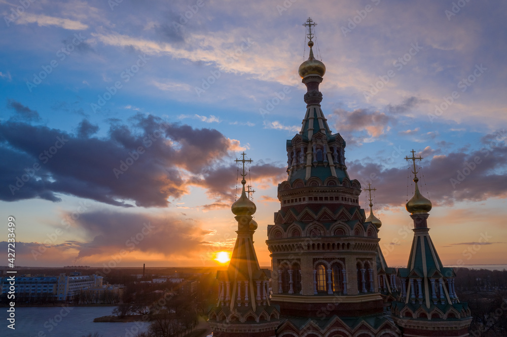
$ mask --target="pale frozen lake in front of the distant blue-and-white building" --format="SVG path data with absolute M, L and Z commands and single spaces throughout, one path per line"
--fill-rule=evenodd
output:
M 133 337 L 138 331 L 147 331 L 149 326 L 147 322 L 93 322 L 96 317 L 111 315 L 115 307 L 68 307 L 65 310 L 58 306 L 16 308 L 16 329 L 12 330 L 7 327 L 7 309 L 0 308 L 3 313 L 0 336 L 82 337 L 98 332 L 101 337 Z

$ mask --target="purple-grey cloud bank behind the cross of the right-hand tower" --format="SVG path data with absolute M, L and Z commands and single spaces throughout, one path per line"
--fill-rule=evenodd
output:
M 452 152 L 434 155 L 429 147 L 424 154 L 419 188 L 433 205 L 452 205 L 454 202 L 481 201 L 507 195 L 507 147 L 486 147 L 471 152 Z M 369 182 L 377 188 L 376 201 L 384 206 L 404 204 L 413 195 L 413 175 L 405 168 L 385 168 L 394 162 L 405 161 L 409 149 L 392 151 L 379 161 L 353 161 L 349 163 L 351 179 L 365 186 Z M 422 177 L 424 175 L 424 177 Z M 411 184 L 408 187 L 407 182 Z M 426 185 L 426 186 L 424 186 Z M 403 192 L 402 192 L 403 191 Z

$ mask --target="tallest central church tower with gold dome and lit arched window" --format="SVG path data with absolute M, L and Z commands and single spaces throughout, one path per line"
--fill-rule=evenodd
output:
M 311 18 L 305 23 L 310 55 L 299 67 L 306 113 L 300 133 L 286 142 L 288 177 L 278 185 L 281 207 L 266 241 L 271 303 L 285 318 L 277 335 L 396 336 L 381 293 L 395 286 L 378 245 L 380 222 L 366 219 L 360 183 L 347 173 L 345 140 L 331 132 L 321 110 L 325 66 L 312 49 L 315 25 Z

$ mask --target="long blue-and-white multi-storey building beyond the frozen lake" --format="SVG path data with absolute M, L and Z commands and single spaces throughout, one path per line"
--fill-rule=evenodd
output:
M 101 287 L 102 276 L 20 276 L 16 277 L 15 291 L 18 297 L 46 298 L 56 301 L 72 300 L 82 288 Z M 4 297 L 9 291 L 9 280 L 0 277 L 1 296 Z

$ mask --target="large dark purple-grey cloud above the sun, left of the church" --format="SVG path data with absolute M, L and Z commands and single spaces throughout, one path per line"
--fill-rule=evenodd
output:
M 110 123 L 103 138 L 88 138 L 95 127 L 86 122 L 77 135 L 23 122 L 0 125 L 0 199 L 59 201 L 58 194 L 68 194 L 126 207 L 162 207 L 169 197 L 188 193 L 195 177 L 212 175 L 210 168 L 239 145 L 216 130 L 163 123 L 154 116 Z

